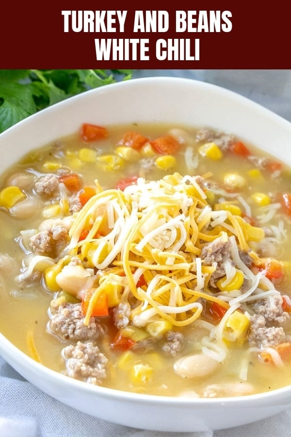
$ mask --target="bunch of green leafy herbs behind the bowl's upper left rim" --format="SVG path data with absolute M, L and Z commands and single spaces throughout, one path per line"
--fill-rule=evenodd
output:
M 0 133 L 88 89 L 131 78 L 132 70 L 0 70 Z

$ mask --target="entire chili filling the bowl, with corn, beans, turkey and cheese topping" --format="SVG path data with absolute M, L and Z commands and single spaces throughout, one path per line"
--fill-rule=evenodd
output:
M 290 384 L 290 177 L 231 126 L 82 124 L 1 176 L 0 331 L 97 386 Z

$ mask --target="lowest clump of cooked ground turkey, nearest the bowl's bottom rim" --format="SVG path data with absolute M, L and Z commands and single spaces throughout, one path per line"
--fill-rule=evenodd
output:
M 108 358 L 92 342 L 69 345 L 62 350 L 67 375 L 100 386 L 108 375 Z

